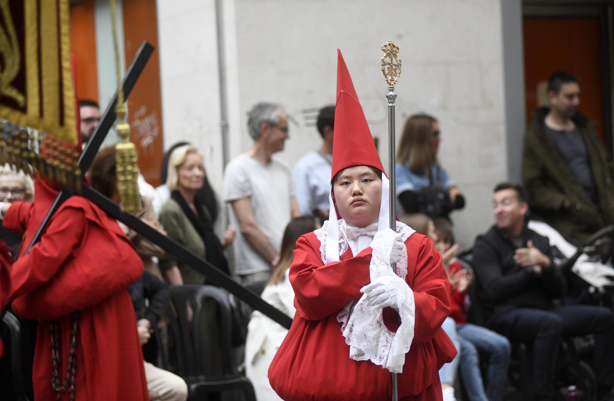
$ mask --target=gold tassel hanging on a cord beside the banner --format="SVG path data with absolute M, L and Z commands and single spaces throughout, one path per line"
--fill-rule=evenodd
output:
M 117 151 L 117 180 L 119 193 L 122 197 L 120 207 L 122 212 L 137 213 L 141 210 L 141 196 L 139 194 L 138 166 L 136 164 L 136 148 L 130 142 L 130 124 L 126 121 L 126 105 L 123 98 L 122 69 L 120 67 L 119 40 L 117 39 L 117 17 L 115 15 L 115 0 L 111 0 L 111 17 L 113 22 L 113 42 L 115 48 L 115 67 L 117 69 L 117 134 L 122 139 L 115 146 Z

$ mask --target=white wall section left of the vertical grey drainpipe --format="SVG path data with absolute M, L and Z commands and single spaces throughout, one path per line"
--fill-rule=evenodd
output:
M 203 153 L 221 190 L 216 15 L 212 0 L 158 0 L 160 82 L 165 148 L 188 140 Z

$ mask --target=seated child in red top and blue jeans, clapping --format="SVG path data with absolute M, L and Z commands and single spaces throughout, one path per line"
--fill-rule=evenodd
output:
M 456 254 L 458 247 L 452 244 L 452 227 L 449 221 L 445 218 L 436 218 L 434 226 L 435 249 L 441 254 L 449 254 L 450 250 L 454 250 Z M 454 319 L 456 323 L 457 340 L 461 344 L 459 363 L 468 398 L 470 401 L 501 401 L 510 362 L 510 342 L 506 337 L 485 327 L 467 323 L 466 310 L 469 305 L 467 289 L 471 285 L 473 273 L 465 269 L 459 259 L 448 258 L 447 261 L 445 259 L 443 265 L 453 285 L 449 318 Z M 486 386 L 480 372 L 478 353 L 488 355 Z

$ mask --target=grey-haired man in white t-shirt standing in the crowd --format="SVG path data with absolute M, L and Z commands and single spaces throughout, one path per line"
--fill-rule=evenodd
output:
M 231 225 L 238 227 L 235 273 L 242 283 L 268 280 L 286 225 L 300 216 L 290 170 L 271 158 L 288 139 L 286 113 L 279 105 L 258 103 L 247 115 L 254 145 L 229 162 L 224 174 L 224 201 L 231 206 Z

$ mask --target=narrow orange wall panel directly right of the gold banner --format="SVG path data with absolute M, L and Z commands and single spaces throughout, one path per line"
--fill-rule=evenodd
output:
M 70 33 L 71 52 L 75 56 L 77 66 L 77 97 L 98 102 L 94 0 L 84 0 L 71 5 Z

